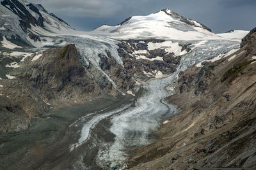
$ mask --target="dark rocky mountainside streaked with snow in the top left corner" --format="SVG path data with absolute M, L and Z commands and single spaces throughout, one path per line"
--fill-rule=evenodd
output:
M 44 34 L 72 30 L 70 25 L 48 13 L 41 5 L 24 0 L 4 0 L 0 5 L 1 37 L 20 45 L 44 46 L 50 39 Z M 37 30 L 36 28 L 40 28 Z M 52 43 L 52 45 L 54 45 Z

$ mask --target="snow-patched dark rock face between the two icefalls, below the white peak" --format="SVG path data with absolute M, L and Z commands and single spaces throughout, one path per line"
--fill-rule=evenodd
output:
M 129 74 L 136 74 L 142 78 L 156 76 L 157 71 L 161 71 L 163 74 L 173 73 L 176 71 L 177 66 L 179 66 L 181 56 L 174 56 L 174 53 L 166 52 L 161 48 L 148 50 L 148 43 L 163 42 L 164 40 L 161 39 L 144 39 L 143 41 L 130 39 L 120 41 L 118 43 L 118 53 L 122 57 L 124 68 Z M 136 52 L 142 53 L 134 55 Z M 145 57 L 145 59 L 141 59 L 140 56 Z M 160 59 L 157 57 L 160 57 Z

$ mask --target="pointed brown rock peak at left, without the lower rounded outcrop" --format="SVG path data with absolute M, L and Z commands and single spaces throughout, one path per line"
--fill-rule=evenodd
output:
M 79 62 L 74 45 L 49 49 L 38 55 L 42 56 L 36 60 L 33 55 L 26 59 L 24 67 L 16 69 L 13 75 L 31 84 L 45 101 L 81 102 L 98 90 Z

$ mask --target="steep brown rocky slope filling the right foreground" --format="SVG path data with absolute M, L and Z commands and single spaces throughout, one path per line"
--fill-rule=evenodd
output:
M 253 29 L 237 52 L 179 74 L 166 101 L 181 111 L 136 150 L 132 169 L 256 167 L 255 39 Z

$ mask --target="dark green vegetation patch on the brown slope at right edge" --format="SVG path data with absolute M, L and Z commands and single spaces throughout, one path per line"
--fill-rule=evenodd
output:
M 228 69 L 228 71 L 223 75 L 223 77 L 221 78 L 221 82 L 227 80 L 228 78 L 230 79 L 229 82 L 231 83 L 233 80 L 235 80 L 237 74 L 241 73 L 241 71 L 243 71 L 246 66 L 248 66 L 249 64 L 251 64 L 253 61 L 256 61 L 256 59 L 254 60 L 250 60 L 248 62 L 243 62 L 241 64 L 238 64 L 236 66 L 231 67 L 230 69 Z

